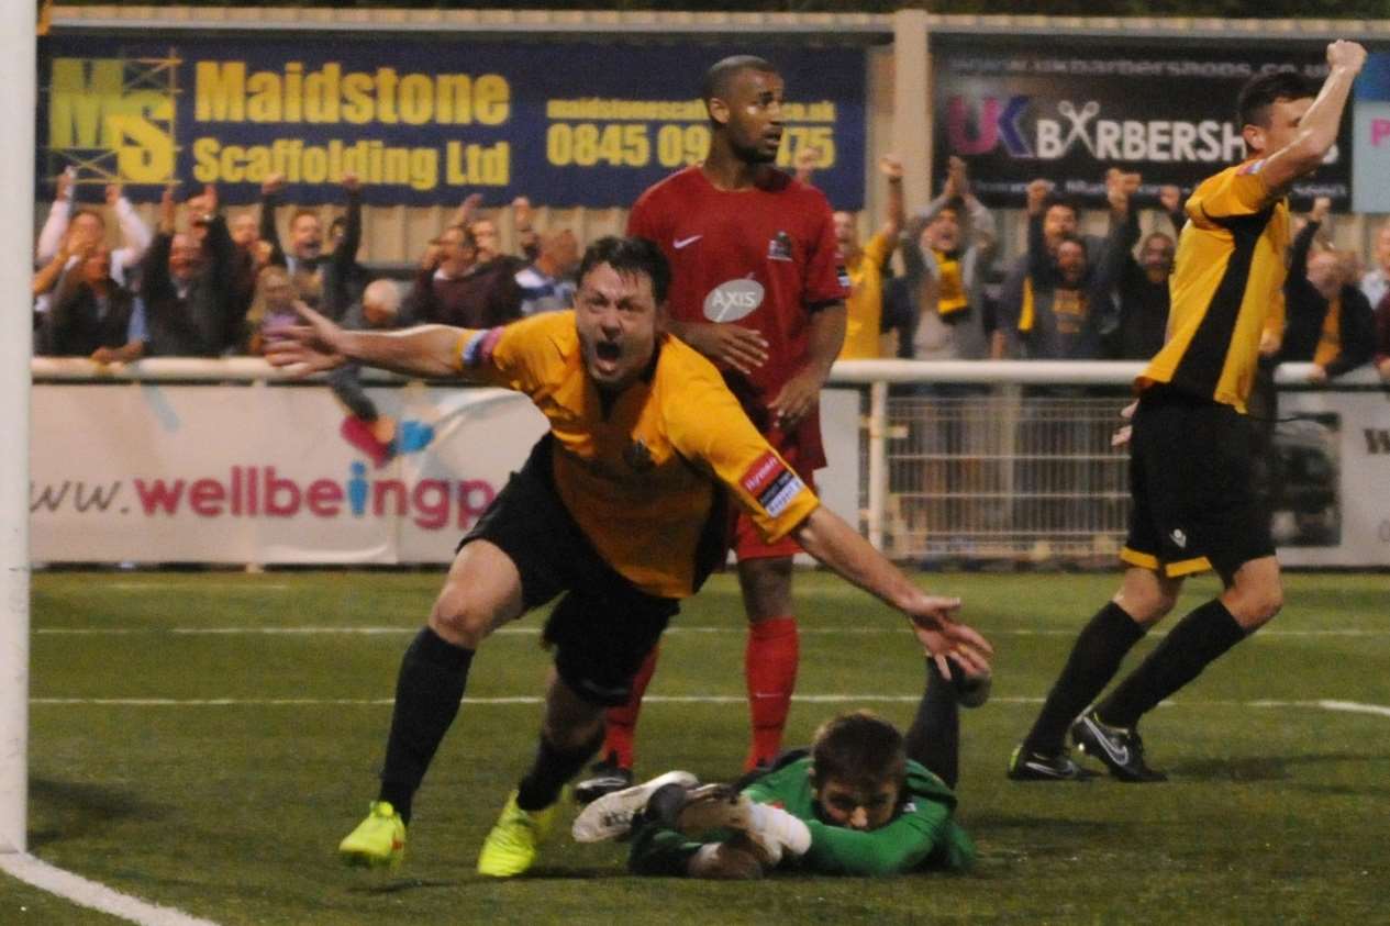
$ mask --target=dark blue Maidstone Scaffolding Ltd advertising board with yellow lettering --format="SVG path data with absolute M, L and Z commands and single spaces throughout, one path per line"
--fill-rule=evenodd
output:
M 778 164 L 821 150 L 816 184 L 863 203 L 865 53 L 696 44 L 493 43 L 370 38 L 54 39 L 39 61 L 39 199 L 75 167 L 99 197 L 170 181 L 256 199 L 335 200 L 345 172 L 374 204 L 627 207 L 709 145 L 699 85 L 731 53 L 787 81 Z

